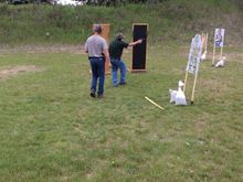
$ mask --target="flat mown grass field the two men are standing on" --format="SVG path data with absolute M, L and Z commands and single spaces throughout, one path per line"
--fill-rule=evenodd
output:
M 194 105 L 177 107 L 188 52 L 149 47 L 147 73 L 117 88 L 107 76 L 104 99 L 82 51 L 0 53 L 0 72 L 38 67 L 0 78 L 0 181 L 243 181 L 242 47 L 225 47 L 223 68 L 202 62 Z

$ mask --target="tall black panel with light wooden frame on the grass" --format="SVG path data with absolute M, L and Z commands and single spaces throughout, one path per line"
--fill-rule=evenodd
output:
M 142 39 L 142 43 L 133 47 L 131 72 L 146 71 L 148 24 L 133 24 L 133 31 L 134 41 Z

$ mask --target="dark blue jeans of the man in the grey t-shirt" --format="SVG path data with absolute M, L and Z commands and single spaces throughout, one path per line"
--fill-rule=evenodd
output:
M 89 57 L 92 68 L 92 82 L 91 89 L 96 92 L 96 85 L 98 81 L 98 95 L 104 93 L 105 84 L 105 58 L 104 57 Z

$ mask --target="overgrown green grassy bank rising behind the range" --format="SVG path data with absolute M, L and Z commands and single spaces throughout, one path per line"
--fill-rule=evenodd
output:
M 243 11 L 236 2 L 240 0 L 169 0 L 117 8 L 0 3 L 0 44 L 78 44 L 94 23 L 109 23 L 110 38 L 122 31 L 131 40 L 133 23 L 148 23 L 151 44 L 184 44 L 196 33 L 208 32 L 213 38 L 215 28 L 224 28 L 225 43 L 241 45 Z

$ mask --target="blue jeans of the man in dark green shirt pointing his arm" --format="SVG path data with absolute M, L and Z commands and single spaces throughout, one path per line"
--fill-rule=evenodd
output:
M 117 85 L 117 71 L 120 71 L 120 79 L 119 79 L 119 84 L 124 84 L 126 83 L 126 72 L 127 72 L 127 67 L 126 64 L 124 63 L 123 60 L 115 60 L 115 58 L 110 58 L 110 63 L 112 63 L 112 69 L 113 69 L 113 85 L 116 86 Z

